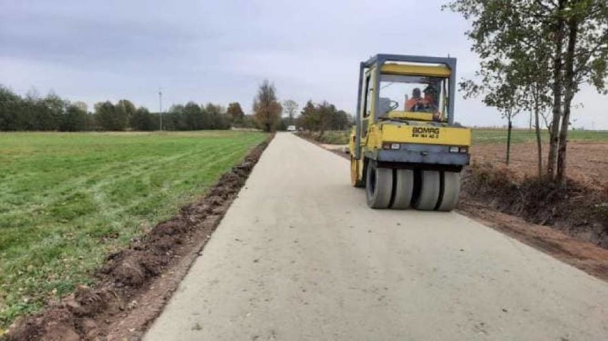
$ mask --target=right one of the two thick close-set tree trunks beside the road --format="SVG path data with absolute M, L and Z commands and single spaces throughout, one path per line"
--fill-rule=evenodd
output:
M 570 108 L 572 98 L 574 98 L 574 52 L 577 46 L 578 20 L 572 17 L 568 21 L 568 48 L 566 51 L 566 70 L 564 71 L 564 117 L 562 118 L 562 128 L 559 131 L 559 152 L 557 156 L 557 182 L 566 184 L 566 151 L 568 144 L 568 125 L 570 123 Z

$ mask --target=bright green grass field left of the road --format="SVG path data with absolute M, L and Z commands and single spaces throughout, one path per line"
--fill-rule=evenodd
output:
M 0 133 L 0 327 L 213 185 L 263 133 Z

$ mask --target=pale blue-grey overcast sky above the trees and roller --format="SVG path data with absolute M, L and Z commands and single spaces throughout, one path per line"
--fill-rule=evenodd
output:
M 444 2 L 0 0 L 0 83 L 89 106 L 128 98 L 152 111 L 162 87 L 165 107 L 238 101 L 248 112 L 268 78 L 281 100 L 327 100 L 354 113 L 358 63 L 373 54 L 450 54 L 458 77 L 472 76 L 468 24 L 441 11 Z M 575 99 L 584 108 L 574 109 L 574 126 L 608 129 L 607 96 L 584 88 Z M 462 96 L 456 116 L 504 124 Z

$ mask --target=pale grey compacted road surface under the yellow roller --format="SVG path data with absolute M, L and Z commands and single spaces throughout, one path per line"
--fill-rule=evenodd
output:
M 608 284 L 279 133 L 146 340 L 608 340 Z

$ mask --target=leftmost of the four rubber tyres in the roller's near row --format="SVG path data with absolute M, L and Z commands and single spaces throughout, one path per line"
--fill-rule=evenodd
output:
M 368 163 L 365 177 L 365 196 L 370 208 L 388 208 L 392 194 L 392 169 L 378 168 L 375 163 Z

